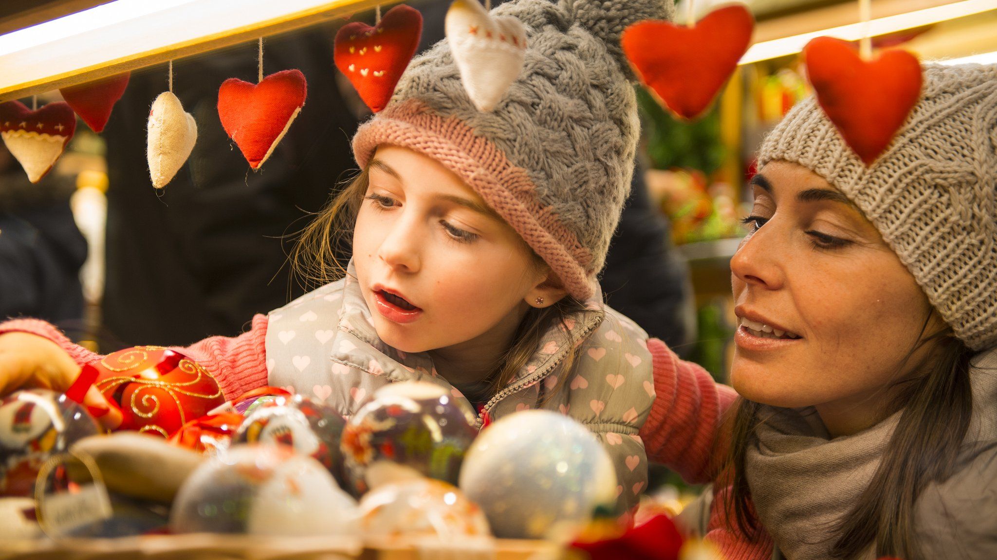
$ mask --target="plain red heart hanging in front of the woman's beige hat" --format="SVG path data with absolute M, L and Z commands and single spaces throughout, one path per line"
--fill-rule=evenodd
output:
M 917 57 L 893 50 L 863 61 L 851 43 L 818 37 L 804 47 L 804 60 L 824 113 L 845 143 L 871 165 L 921 95 Z

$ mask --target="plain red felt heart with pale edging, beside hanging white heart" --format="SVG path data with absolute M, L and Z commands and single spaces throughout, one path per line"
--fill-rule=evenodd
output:
M 308 86 L 300 70 L 271 74 L 259 84 L 229 78 L 218 89 L 218 118 L 249 166 L 266 161 L 305 105 Z

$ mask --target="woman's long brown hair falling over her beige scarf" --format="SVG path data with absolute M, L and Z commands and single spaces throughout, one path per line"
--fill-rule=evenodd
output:
M 854 507 L 832 528 L 834 558 L 859 556 L 869 544 L 876 557 L 895 556 L 921 560 L 914 540 L 915 503 L 931 481 L 943 481 L 955 468 L 973 409 L 969 385 L 972 352 L 955 338 L 950 328 L 924 336 L 932 317 L 921 326 L 918 341 L 907 353 L 901 368 L 918 349 L 932 344 L 930 361 L 913 378 L 897 382 L 888 414 L 903 410 L 893 435 L 882 452 L 879 467 L 859 495 Z M 745 475 L 748 449 L 756 442 L 762 405 L 738 398 L 733 433 L 722 484 L 729 484 L 724 507 L 728 528 L 738 529 L 753 540 L 761 524 L 751 505 L 751 490 Z

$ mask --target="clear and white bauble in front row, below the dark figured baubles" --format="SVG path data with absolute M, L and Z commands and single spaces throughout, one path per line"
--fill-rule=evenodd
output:
M 347 535 L 357 515 L 315 459 L 280 445 L 233 445 L 183 481 L 169 524 L 176 533 Z

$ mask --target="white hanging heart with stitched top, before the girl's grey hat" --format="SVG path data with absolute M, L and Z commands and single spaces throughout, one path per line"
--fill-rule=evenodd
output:
M 512 16 L 493 17 L 477 0 L 455 0 L 446 29 L 468 97 L 479 111 L 492 111 L 522 71 L 522 23 Z

